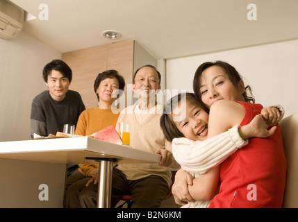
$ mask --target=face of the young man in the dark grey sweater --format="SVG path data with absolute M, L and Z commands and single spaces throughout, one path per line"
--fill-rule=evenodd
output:
M 69 80 L 60 71 L 53 69 L 48 75 L 46 85 L 49 87 L 51 97 L 56 101 L 62 101 L 68 91 Z

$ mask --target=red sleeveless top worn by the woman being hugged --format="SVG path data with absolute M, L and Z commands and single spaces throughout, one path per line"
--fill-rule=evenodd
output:
M 236 101 L 245 107 L 244 126 L 263 106 Z M 220 166 L 220 193 L 209 207 L 282 207 L 286 161 L 281 127 L 267 138 L 250 138 Z

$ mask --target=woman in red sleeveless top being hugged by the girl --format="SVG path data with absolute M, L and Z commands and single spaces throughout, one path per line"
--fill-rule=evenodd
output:
M 210 108 L 214 118 L 209 124 L 223 121 L 209 128 L 213 137 L 240 124 L 244 126 L 256 114 L 263 112 L 262 105 L 253 104 L 247 96 L 240 74 L 226 62 L 205 62 L 194 75 L 194 94 Z M 250 103 L 253 102 L 253 103 Z M 208 172 L 207 172 L 208 173 Z M 261 139 L 251 138 L 249 144 L 233 153 L 220 166 L 220 193 L 209 207 L 281 207 L 285 190 L 286 161 L 283 152 L 281 128 L 274 135 Z M 192 200 L 188 188 L 192 187 L 188 173 L 176 173 L 172 192 L 179 201 Z M 204 184 L 204 177 L 193 180 L 193 186 Z

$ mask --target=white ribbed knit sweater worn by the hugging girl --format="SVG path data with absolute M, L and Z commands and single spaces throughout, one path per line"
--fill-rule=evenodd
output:
M 221 164 L 238 148 L 248 144 L 238 132 L 240 126 L 234 126 L 228 131 L 204 141 L 192 141 L 181 137 L 172 141 L 172 152 L 181 168 L 188 171 L 194 178 L 206 173 L 209 169 Z M 208 207 L 210 201 L 196 201 L 183 207 Z

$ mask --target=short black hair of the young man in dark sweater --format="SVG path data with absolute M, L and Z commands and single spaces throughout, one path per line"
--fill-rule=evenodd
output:
M 44 78 L 44 82 L 47 83 L 48 76 L 52 70 L 60 71 L 63 74 L 63 77 L 68 78 L 69 83 L 72 82 L 72 69 L 63 62 L 63 60 L 53 60 L 49 62 L 42 71 L 42 77 Z

